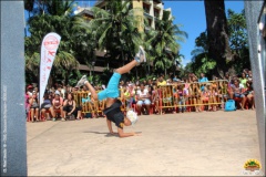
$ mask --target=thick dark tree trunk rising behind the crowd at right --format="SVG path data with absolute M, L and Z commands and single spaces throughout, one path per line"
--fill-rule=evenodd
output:
M 204 0 L 204 6 L 208 56 L 216 61 L 216 74 L 223 75 L 228 70 L 226 61 L 232 60 L 224 0 Z

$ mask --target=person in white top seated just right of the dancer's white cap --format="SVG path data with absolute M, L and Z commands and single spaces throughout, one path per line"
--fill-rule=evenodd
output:
M 150 105 L 151 105 L 151 95 L 149 95 L 149 91 L 145 90 L 144 84 L 141 83 L 140 91 L 136 93 L 136 111 L 137 113 L 142 112 L 142 108 L 145 108 L 145 114 L 149 115 Z M 143 107 L 144 105 L 144 107 Z

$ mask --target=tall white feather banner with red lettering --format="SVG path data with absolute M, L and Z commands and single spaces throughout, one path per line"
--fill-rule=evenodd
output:
M 47 34 L 41 45 L 40 62 L 40 106 L 43 102 L 43 94 L 47 88 L 48 79 L 57 54 L 61 37 L 54 32 Z

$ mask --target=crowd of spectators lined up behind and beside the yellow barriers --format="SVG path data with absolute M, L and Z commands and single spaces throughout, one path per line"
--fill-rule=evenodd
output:
M 215 81 L 226 81 L 227 84 L 223 86 Z M 194 86 L 195 83 L 206 84 L 196 88 Z M 175 75 L 165 76 L 161 74 L 158 77 L 149 80 L 136 80 L 135 82 L 121 81 L 119 85 L 121 91 L 120 98 L 124 101 L 126 110 L 134 108 L 139 115 L 158 114 L 158 101 L 162 97 L 160 97 L 157 88 L 162 85 L 175 85 L 173 86 L 174 102 L 180 105 L 176 110 L 166 108 L 163 113 L 167 111 L 172 113 L 186 112 L 187 108 L 185 105 L 187 98 L 194 100 L 193 103 L 196 104 L 194 106 L 195 112 L 202 112 L 205 108 L 206 111 L 223 110 L 224 104 L 201 106 L 201 103 L 205 102 L 216 103 L 218 97 L 222 97 L 223 101 L 237 101 L 237 103 L 239 103 L 239 110 L 242 111 L 246 107 L 250 110 L 255 108 L 252 71 L 247 69 L 243 70 L 243 73 L 239 75 L 233 75 L 227 72 L 223 77 L 213 76 L 212 79 L 206 77 L 204 73 L 201 73 L 198 76 L 194 73 L 188 73 L 187 76 L 182 79 Z M 105 88 L 105 85 L 94 84 L 94 87 L 100 92 Z M 41 116 L 53 121 L 55 121 L 57 117 L 62 121 L 81 119 L 82 105 L 78 105 L 73 98 L 73 94 L 80 92 L 89 93 L 85 86 L 79 88 L 57 84 L 54 87 L 45 91 L 43 104 L 39 106 L 38 87 L 28 85 L 25 93 L 27 116 L 30 117 L 32 122 L 40 121 Z M 93 100 L 90 98 L 90 94 L 88 94 L 88 98 L 90 102 L 93 102 Z M 151 107 L 153 107 L 153 112 L 150 112 Z M 104 103 L 102 103 L 101 107 L 96 106 L 94 108 L 103 110 Z

